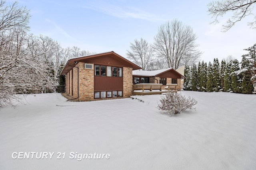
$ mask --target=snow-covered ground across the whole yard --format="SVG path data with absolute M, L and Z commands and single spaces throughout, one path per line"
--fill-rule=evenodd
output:
M 16 109 L 0 110 L 0 169 L 255 169 L 256 95 L 182 94 L 198 101 L 196 111 L 172 117 L 156 108 L 160 95 L 136 96 L 144 102 L 28 95 Z M 22 152 L 54 153 L 23 159 Z M 110 158 L 78 160 L 72 152 Z

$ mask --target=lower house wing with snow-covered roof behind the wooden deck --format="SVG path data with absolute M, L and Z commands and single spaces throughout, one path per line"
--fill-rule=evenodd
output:
M 133 70 L 132 71 L 132 82 L 133 84 L 138 83 L 156 83 L 156 84 L 177 84 L 177 90 L 182 89 L 181 80 L 185 77 L 174 70 L 173 68 L 166 68 L 161 70 Z

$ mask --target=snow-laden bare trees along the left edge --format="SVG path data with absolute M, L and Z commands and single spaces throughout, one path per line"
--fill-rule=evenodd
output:
M 54 51 L 50 39 L 27 35 L 28 10 L 16 2 L 4 3 L 0 2 L 5 16 L 0 21 L 0 107 L 19 101 L 20 94 L 40 93 L 45 86 L 54 91 L 56 86 L 50 76 Z

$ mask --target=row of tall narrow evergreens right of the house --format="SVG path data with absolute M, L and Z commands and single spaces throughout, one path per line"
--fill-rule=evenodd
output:
M 241 63 L 235 59 L 228 63 L 222 60 L 220 64 L 218 59 L 214 59 L 213 64 L 209 62 L 208 66 L 204 61 L 191 68 L 186 65 L 184 90 L 252 94 L 254 87 L 249 67 L 250 61 L 246 56 L 243 56 Z

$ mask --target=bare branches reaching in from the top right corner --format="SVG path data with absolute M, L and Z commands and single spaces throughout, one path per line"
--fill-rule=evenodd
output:
M 256 0 L 222 0 L 212 1 L 208 4 L 208 12 L 214 18 L 212 23 L 218 23 L 218 18 L 221 18 L 228 12 L 232 12 L 232 16 L 226 21 L 226 25 L 223 26 L 223 31 L 228 31 L 235 25 L 236 22 L 241 21 L 243 18 L 253 14 L 254 3 Z M 251 22 L 248 22 L 248 26 L 256 28 L 256 16 Z

